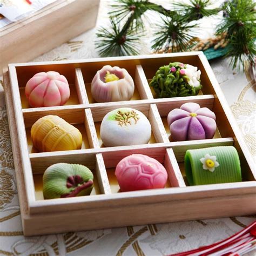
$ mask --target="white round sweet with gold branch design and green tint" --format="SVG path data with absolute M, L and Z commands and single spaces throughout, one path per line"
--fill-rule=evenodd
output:
M 122 107 L 103 118 L 100 137 L 106 147 L 147 144 L 151 137 L 151 125 L 142 112 Z

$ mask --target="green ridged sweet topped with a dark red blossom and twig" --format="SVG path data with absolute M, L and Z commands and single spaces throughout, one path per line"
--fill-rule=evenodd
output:
M 43 176 L 44 199 L 87 196 L 93 188 L 93 174 L 80 164 L 53 164 Z

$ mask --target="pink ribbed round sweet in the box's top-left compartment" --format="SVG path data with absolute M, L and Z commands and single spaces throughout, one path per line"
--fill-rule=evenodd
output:
M 25 93 L 31 107 L 61 106 L 69 99 L 69 83 L 58 72 L 40 72 L 26 83 Z

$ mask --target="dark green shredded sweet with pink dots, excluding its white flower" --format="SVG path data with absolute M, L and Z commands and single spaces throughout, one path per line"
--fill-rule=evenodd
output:
M 198 86 L 188 84 L 190 78 L 186 76 L 185 69 L 186 64 L 180 62 L 173 62 L 158 69 L 150 82 L 158 98 L 198 95 L 203 86 L 200 80 L 198 80 L 200 83 Z

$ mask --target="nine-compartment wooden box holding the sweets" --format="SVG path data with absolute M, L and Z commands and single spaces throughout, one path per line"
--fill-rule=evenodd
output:
M 183 62 L 201 70 L 203 89 L 198 96 L 153 98 L 149 80 L 161 65 Z M 125 102 L 95 103 L 90 83 L 103 65 L 127 69 L 134 79 L 133 98 Z M 30 108 L 24 96 L 26 82 L 39 71 L 58 71 L 69 81 L 71 97 L 64 106 Z M 255 164 L 202 52 L 71 60 L 62 62 L 10 64 L 4 71 L 12 150 L 17 177 L 22 224 L 25 235 L 92 230 L 127 225 L 217 218 L 254 214 Z M 213 139 L 170 142 L 166 116 L 186 102 L 208 107 L 217 116 Z M 119 106 L 142 111 L 152 125 L 149 144 L 104 147 L 99 124 L 104 115 Z M 58 114 L 82 132 L 81 150 L 38 153 L 33 149 L 30 127 L 47 114 Z M 233 145 L 239 152 L 240 183 L 188 186 L 184 172 L 187 149 Z M 114 176 L 118 161 L 132 153 L 143 153 L 163 163 L 169 182 L 165 188 L 118 192 Z M 55 163 L 84 164 L 93 170 L 96 186 L 91 196 L 44 200 L 42 174 Z

